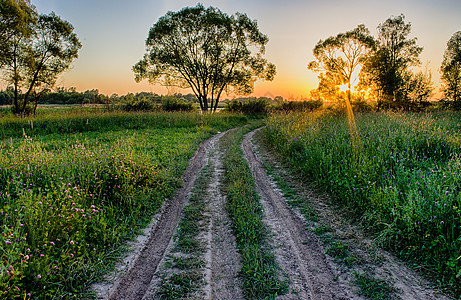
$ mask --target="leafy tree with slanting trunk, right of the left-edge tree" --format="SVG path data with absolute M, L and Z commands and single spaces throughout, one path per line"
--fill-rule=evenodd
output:
M 82 44 L 73 32 L 74 27 L 53 12 L 40 15 L 33 27 L 32 39 L 26 47 L 25 85 L 21 113 L 25 114 L 32 93 L 41 94 L 56 83 L 59 74 L 78 57 Z M 35 91 L 35 89 L 42 89 Z

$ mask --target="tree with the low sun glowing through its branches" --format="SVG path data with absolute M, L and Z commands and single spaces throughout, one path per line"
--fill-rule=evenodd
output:
M 347 101 L 350 102 L 354 76 L 374 44 L 370 31 L 363 24 L 346 33 L 320 40 L 313 50 L 316 60 L 308 65 L 310 70 L 320 72 L 320 94 L 327 98 L 337 96 L 339 86 L 345 85 Z

